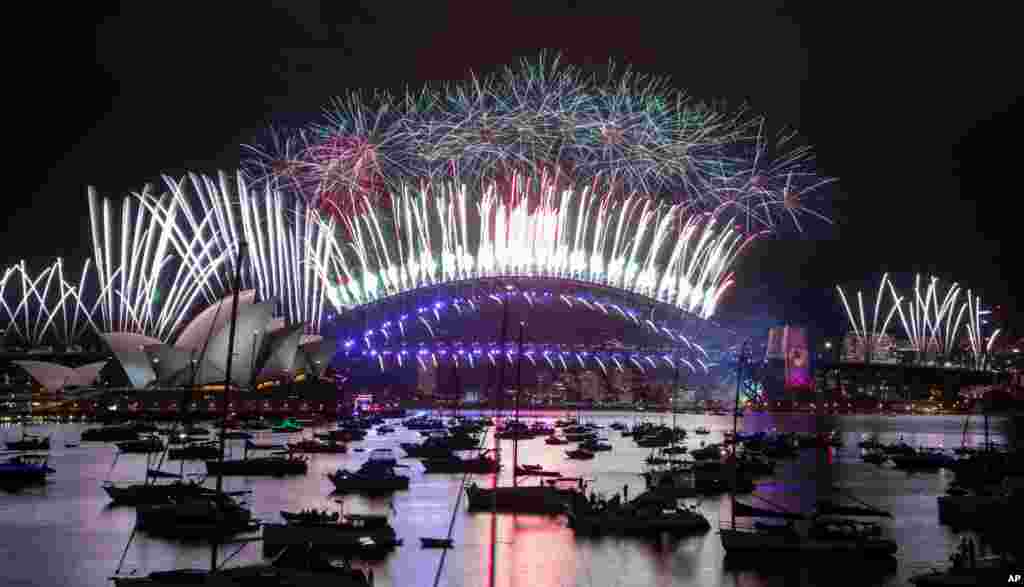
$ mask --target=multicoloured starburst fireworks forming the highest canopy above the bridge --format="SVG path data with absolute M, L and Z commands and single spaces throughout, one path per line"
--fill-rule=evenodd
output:
M 665 79 L 609 67 L 599 80 L 542 56 L 442 90 L 335 100 L 323 124 L 249 146 L 247 169 L 339 219 L 423 181 L 475 188 L 557 172 L 694 212 L 728 205 L 749 230 L 783 218 L 800 228 L 804 212 L 826 219 L 807 204 L 833 179 L 794 142 L 769 142 L 760 117 L 696 102 Z

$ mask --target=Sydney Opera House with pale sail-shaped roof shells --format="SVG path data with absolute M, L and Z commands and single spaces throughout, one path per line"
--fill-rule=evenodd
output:
M 274 389 L 318 379 L 330 364 L 336 344 L 321 335 L 305 334 L 303 323 L 288 325 L 273 316 L 272 301 L 256 301 L 256 292 L 239 295 L 231 388 Z M 84 410 L 90 399 L 120 393 L 126 407 L 166 411 L 181 391 L 220 391 L 227 379 L 231 298 L 203 309 L 173 343 L 131 332 L 99 336 L 108 359 L 72 368 L 45 361 L 14 361 L 43 396 L 66 399 Z M 100 381 L 103 386 L 97 385 Z M 240 395 L 242 397 L 242 395 Z M 212 404 L 210 409 L 216 409 Z M 255 408 L 255 406 L 254 406 Z M 268 408 L 268 406 L 267 406 Z

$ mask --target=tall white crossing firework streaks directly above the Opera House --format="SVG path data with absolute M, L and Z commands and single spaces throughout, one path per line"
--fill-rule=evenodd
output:
M 170 340 L 200 302 L 228 295 L 243 240 L 243 287 L 274 300 L 289 323 L 319 329 L 327 255 L 340 249 L 333 222 L 269 186 L 250 193 L 237 179 L 165 177 L 163 195 L 146 190 L 122 201 L 120 229 L 110 201 L 90 193 L 104 332 Z

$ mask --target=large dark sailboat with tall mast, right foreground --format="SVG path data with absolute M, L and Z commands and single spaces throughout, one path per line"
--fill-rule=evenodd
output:
M 743 345 L 745 350 L 746 345 Z M 739 403 L 739 381 L 742 379 L 742 369 L 746 361 L 741 351 L 737 360 L 736 403 Z M 736 435 L 736 420 L 733 419 L 732 437 Z M 738 443 L 732 445 L 733 487 L 729 496 L 732 503 L 732 514 L 729 522 L 721 522 L 719 535 L 722 547 L 729 555 L 776 555 L 776 554 L 818 554 L 845 555 L 853 557 L 891 557 L 898 550 L 897 544 L 882 537 L 881 527 L 870 522 L 855 519 L 860 516 L 892 517 L 889 512 L 880 510 L 856 499 L 858 505 L 839 505 L 830 501 L 818 502 L 815 511 L 809 515 L 762 509 L 736 502 L 736 486 L 738 485 L 736 467 L 736 450 Z M 755 496 L 757 497 L 757 496 Z M 763 501 L 764 498 L 759 498 Z M 851 498 L 853 499 L 853 498 Z M 751 525 L 737 525 L 736 517 L 746 518 L 783 518 L 784 525 L 772 525 L 755 521 Z

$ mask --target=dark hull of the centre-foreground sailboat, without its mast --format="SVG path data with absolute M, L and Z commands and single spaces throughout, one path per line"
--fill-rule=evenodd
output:
M 475 483 L 466 488 L 469 511 L 507 511 L 516 513 L 563 513 L 583 495 L 580 478 L 549 479 L 542 486 L 496 487 L 485 489 Z

